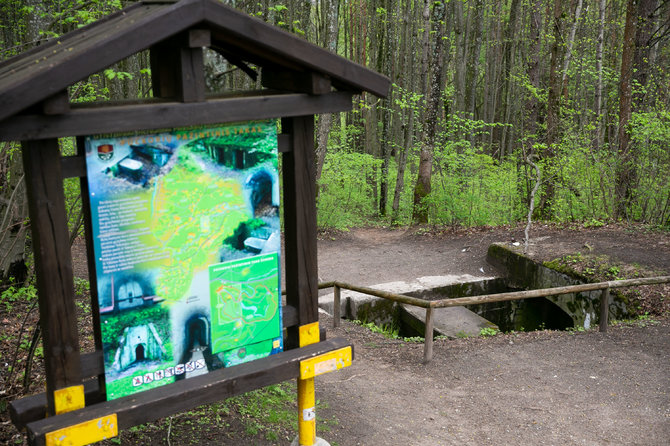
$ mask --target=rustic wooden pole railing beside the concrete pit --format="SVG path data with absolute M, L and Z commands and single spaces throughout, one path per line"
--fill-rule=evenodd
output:
M 473 304 L 484 304 L 492 302 L 504 302 L 510 300 L 532 299 L 535 297 L 556 296 L 560 294 L 580 293 L 584 291 L 603 290 L 600 298 L 600 326 L 601 332 L 607 331 L 608 324 L 608 306 L 610 288 L 624 288 L 640 285 L 655 285 L 660 283 L 670 283 L 670 276 L 643 277 L 639 279 L 610 280 L 607 282 L 584 283 L 580 285 L 569 285 L 554 288 L 542 288 L 539 290 L 513 291 L 509 293 L 483 294 L 480 296 L 457 297 L 440 300 L 423 300 L 416 297 L 405 296 L 403 294 L 391 293 L 388 291 L 376 290 L 374 288 L 352 285 L 345 282 L 330 281 L 319 284 L 319 289 L 333 288 L 333 327 L 340 325 L 340 290 L 346 289 L 370 296 L 380 297 L 382 299 L 392 300 L 415 307 L 426 309 L 425 341 L 423 360 L 424 363 L 433 359 L 433 309 L 457 307 Z

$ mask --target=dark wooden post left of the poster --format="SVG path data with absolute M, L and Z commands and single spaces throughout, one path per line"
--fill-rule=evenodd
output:
M 58 140 L 24 142 L 23 166 L 35 252 L 47 410 L 53 415 L 54 392 L 81 384 L 72 256 Z

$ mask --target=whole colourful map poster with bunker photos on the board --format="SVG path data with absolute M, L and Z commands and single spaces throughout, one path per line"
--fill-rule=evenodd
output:
M 107 399 L 281 351 L 277 124 L 85 143 Z

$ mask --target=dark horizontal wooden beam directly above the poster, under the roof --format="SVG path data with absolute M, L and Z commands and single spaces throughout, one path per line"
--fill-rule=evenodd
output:
M 206 102 L 148 102 L 95 108 L 72 107 L 57 116 L 20 115 L 0 121 L 0 141 L 95 135 L 188 125 L 222 124 L 305 114 L 335 113 L 352 108 L 352 94 L 260 94 Z

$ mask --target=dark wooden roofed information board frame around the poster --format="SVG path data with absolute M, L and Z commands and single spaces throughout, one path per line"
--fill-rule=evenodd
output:
M 248 64 L 259 67 L 264 88 L 206 95 L 203 47 L 252 76 Z M 68 87 L 147 49 L 154 98 L 70 104 Z M 319 358 L 338 363 L 349 343 L 318 335 L 314 115 L 350 110 L 355 94 L 385 97 L 389 86 L 384 76 L 216 0 L 145 0 L 0 63 L 0 140 L 22 143 L 47 379 L 45 393 L 11 405 L 31 444 L 65 444 L 68 435 L 68 444 L 97 441 L 203 403 L 300 382 L 323 369 L 315 367 Z M 83 136 L 269 118 L 282 119 L 285 351 L 106 401 L 90 209 L 96 352 L 81 353 L 63 191 L 64 178 L 79 177 L 87 195 Z M 62 157 L 58 138 L 72 136 L 79 154 Z

